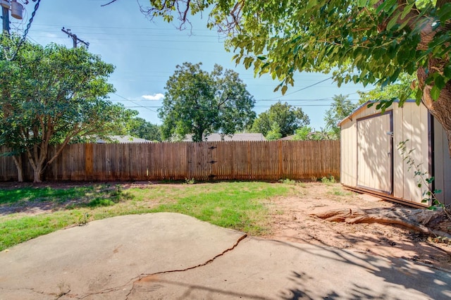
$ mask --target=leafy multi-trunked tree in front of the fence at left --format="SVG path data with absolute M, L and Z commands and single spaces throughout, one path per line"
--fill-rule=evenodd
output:
M 22 154 L 34 181 L 74 139 L 118 132 L 132 113 L 105 98 L 113 92 L 106 80 L 113 65 L 87 49 L 66 49 L 25 42 L 15 59 L 17 39 L 0 41 L 0 145 L 11 151 L 23 181 Z M 48 157 L 49 145 L 57 151 Z

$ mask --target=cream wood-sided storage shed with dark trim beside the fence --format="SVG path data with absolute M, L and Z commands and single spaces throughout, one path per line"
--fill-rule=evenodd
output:
M 421 177 L 435 177 L 429 185 L 442 203 L 451 204 L 451 158 L 443 127 L 423 104 L 393 104 L 384 113 L 367 102 L 340 122 L 342 185 L 412 206 L 422 203 L 427 184 Z M 406 152 L 398 149 L 405 142 Z M 413 165 L 407 162 L 410 158 Z M 415 166 L 426 175 L 415 175 Z M 411 167 L 411 168 L 409 168 Z

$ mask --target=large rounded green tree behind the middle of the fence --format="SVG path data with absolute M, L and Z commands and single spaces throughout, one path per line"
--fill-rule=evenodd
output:
M 207 73 L 201 65 L 177 65 L 166 82 L 159 109 L 163 139 L 192 134 L 193 142 L 201 142 L 212 132 L 233 135 L 254 120 L 254 98 L 238 74 L 220 65 Z

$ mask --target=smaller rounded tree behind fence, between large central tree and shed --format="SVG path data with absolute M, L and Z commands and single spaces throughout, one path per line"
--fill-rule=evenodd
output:
M 287 137 L 293 135 L 297 128 L 309 123 L 309 116 L 302 111 L 302 108 L 295 108 L 286 102 L 282 104 L 278 101 L 271 105 L 268 111 L 259 114 L 251 130 L 261 132 L 264 136 L 271 132 L 271 136 L 274 136 L 274 131 L 278 128 L 281 137 Z

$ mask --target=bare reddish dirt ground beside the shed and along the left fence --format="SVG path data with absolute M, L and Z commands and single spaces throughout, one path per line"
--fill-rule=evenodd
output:
M 115 186 L 116 183 L 109 183 Z M 23 187 L 27 184 L 13 182 L 0 183 L 0 188 Z M 51 183 L 42 187 L 73 187 L 84 184 Z M 124 184 L 123 188 L 146 187 L 149 182 Z M 33 185 L 36 186 L 36 185 Z M 315 216 L 336 208 L 365 209 L 401 207 L 366 194 L 356 194 L 343 189 L 340 184 L 323 184 L 319 182 L 297 183 L 292 185 L 295 195 L 277 197 L 266 201 L 270 211 L 270 233 L 264 238 L 280 241 L 333 246 L 338 249 L 350 249 L 386 257 L 405 258 L 451 271 L 451 245 L 434 242 L 430 237 L 396 225 L 347 224 L 322 220 Z M 54 211 L 54 206 L 46 203 L 32 207 L 0 206 L 0 215 L 23 213 L 34 215 Z M 434 225 L 435 230 L 451 233 L 449 220 Z

